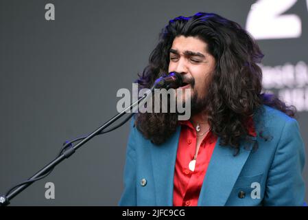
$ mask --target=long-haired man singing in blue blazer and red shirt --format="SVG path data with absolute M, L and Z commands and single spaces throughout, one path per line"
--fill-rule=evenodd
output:
M 248 32 L 217 14 L 169 21 L 137 82 L 180 73 L 191 118 L 135 115 L 119 205 L 303 206 L 295 108 L 261 93 L 262 58 Z

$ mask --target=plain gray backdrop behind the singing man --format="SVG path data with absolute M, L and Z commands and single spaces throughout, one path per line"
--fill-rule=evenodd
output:
M 169 19 L 216 12 L 245 27 L 254 2 L 0 0 L 0 193 L 54 159 L 64 140 L 115 115 L 117 90 L 131 90 Z M 47 3 L 55 5 L 55 21 L 45 20 Z M 302 34 L 258 41 L 265 65 L 308 63 L 306 1 L 285 13 L 300 17 Z M 307 111 L 299 116 L 307 148 Z M 128 124 L 95 137 L 12 205 L 116 206 L 127 137 Z M 304 173 L 308 183 L 307 166 Z M 49 181 L 56 199 L 45 199 Z

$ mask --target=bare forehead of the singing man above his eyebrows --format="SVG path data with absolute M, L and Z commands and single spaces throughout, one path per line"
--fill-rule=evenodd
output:
M 172 43 L 172 49 L 178 52 L 200 52 L 206 54 L 207 43 L 195 36 L 177 36 Z

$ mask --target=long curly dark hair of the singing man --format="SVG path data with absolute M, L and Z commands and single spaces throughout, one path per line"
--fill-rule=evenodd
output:
M 199 12 L 192 17 L 176 17 L 163 28 L 149 64 L 139 74 L 139 89 L 150 88 L 156 78 L 167 73 L 169 50 L 176 36 L 195 36 L 207 43 L 215 58 L 215 70 L 206 91 L 206 109 L 211 131 L 221 137 L 220 145 L 239 151 L 248 137 L 248 118 L 263 104 L 294 117 L 296 109 L 272 94 L 261 94 L 262 71 L 257 63 L 263 54 L 256 41 L 238 23 L 217 14 Z M 138 113 L 137 129 L 154 144 L 162 144 L 178 126 L 176 113 Z

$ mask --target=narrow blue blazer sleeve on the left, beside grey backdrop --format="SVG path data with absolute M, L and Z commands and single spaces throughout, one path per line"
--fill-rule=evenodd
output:
M 137 206 L 136 188 L 136 131 L 134 118 L 130 123 L 130 135 L 126 148 L 126 164 L 124 166 L 123 184 L 124 189 L 119 201 L 119 206 Z

